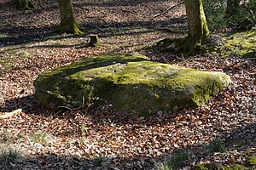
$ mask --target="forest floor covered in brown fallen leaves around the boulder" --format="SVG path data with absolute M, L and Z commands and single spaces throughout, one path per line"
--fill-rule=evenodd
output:
M 154 18 L 175 0 L 74 0 L 77 20 L 87 30 L 80 36 L 53 34 L 60 22 L 57 3 L 40 2 L 33 11 L 0 2 L 0 115 L 22 109 L 0 119 L 0 169 L 160 169 L 168 162 L 183 169 L 200 162 L 212 163 L 212 169 L 254 168 L 248 157 L 256 156 L 255 59 L 180 59 L 145 50 L 164 37 L 186 35 L 183 5 Z M 89 34 L 100 37 L 99 47 L 84 48 Z M 148 118 L 122 116 L 108 106 L 55 113 L 34 99 L 32 82 L 41 72 L 120 52 L 224 71 L 233 82 L 200 108 Z

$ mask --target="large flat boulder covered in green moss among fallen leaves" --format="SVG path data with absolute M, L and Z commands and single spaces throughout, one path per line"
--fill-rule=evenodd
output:
M 45 71 L 34 86 L 38 102 L 54 111 L 104 101 L 119 113 L 150 116 L 204 105 L 229 83 L 222 72 L 158 63 L 138 54 L 107 54 Z

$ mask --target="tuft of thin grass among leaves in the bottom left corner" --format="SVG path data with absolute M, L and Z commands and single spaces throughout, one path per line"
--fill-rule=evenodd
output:
M 0 145 L 0 164 L 9 165 L 10 163 L 17 161 L 19 158 L 19 150 L 15 150 L 15 148 L 7 144 Z

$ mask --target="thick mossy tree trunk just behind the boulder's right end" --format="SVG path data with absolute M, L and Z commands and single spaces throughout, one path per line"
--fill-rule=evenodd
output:
M 186 0 L 189 35 L 179 42 L 177 51 L 184 55 L 196 54 L 207 43 L 209 30 L 202 0 Z

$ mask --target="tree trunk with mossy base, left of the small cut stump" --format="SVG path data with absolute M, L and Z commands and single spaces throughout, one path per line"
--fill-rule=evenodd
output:
M 72 0 L 58 0 L 61 24 L 55 30 L 60 33 L 72 33 L 72 34 L 82 34 L 84 28 L 80 27 L 75 16 L 73 14 L 73 1 Z

